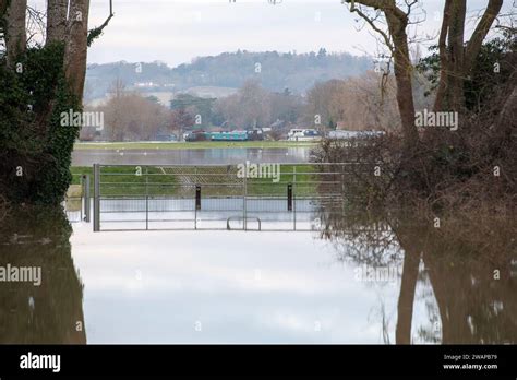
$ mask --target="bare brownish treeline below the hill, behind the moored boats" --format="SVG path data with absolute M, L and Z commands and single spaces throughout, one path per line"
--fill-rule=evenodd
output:
M 266 129 L 270 139 L 286 138 L 291 128 L 323 132 L 396 130 L 400 118 L 393 78 L 380 92 L 381 75 L 370 71 L 358 78 L 317 82 L 305 96 L 289 88 L 272 92 L 250 80 L 232 95 L 205 98 L 178 94 L 168 106 L 116 81 L 108 100 L 88 111 L 103 112 L 103 130 L 83 128 L 81 140 L 148 141 L 192 130 Z

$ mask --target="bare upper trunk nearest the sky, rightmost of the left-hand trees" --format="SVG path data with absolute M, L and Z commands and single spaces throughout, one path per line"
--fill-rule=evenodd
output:
M 64 50 L 64 72 L 73 94 L 83 99 L 86 75 L 89 0 L 71 0 L 69 35 Z

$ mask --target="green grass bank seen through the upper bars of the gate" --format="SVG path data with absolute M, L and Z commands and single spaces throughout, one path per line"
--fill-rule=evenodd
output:
M 100 176 L 103 197 L 192 197 L 195 185 L 202 187 L 204 195 L 231 197 L 242 195 L 242 181 L 236 174 L 227 171 L 227 166 L 191 166 L 169 170 L 160 166 L 104 166 Z M 91 178 L 91 195 L 94 194 L 93 168 L 87 166 L 71 167 L 73 176 L 70 191 L 77 191 L 81 176 Z M 141 173 L 142 175 L 139 175 Z M 147 175 L 145 175 L 147 173 Z M 317 178 L 313 175 L 313 165 L 280 165 L 278 181 L 273 178 L 248 178 L 249 197 L 286 197 L 289 183 L 294 183 L 294 194 L 310 195 L 316 193 Z M 193 175 L 194 174 L 194 175 Z M 217 174 L 217 175 L 214 175 Z M 236 180 L 237 179 L 237 180 Z

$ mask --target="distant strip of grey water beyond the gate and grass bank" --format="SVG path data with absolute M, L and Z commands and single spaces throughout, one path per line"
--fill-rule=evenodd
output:
M 252 163 L 306 163 L 310 147 L 228 147 L 181 150 L 76 150 L 72 166 L 104 165 L 207 165 Z

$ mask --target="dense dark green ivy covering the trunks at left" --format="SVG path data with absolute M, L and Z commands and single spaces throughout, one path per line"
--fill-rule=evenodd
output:
M 16 60 L 22 72 L 0 58 L 0 192 L 14 203 L 59 204 L 72 180 L 80 128 L 61 127 L 60 115 L 82 106 L 67 85 L 63 57 L 60 43 L 31 48 Z

